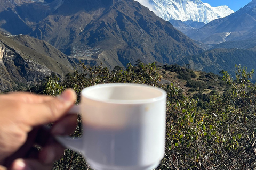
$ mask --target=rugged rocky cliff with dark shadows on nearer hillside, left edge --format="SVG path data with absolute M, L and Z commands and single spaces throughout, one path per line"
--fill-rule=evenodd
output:
M 19 85 L 37 84 L 52 71 L 30 58 L 23 58 L 18 52 L 0 43 L 0 90 L 12 91 Z

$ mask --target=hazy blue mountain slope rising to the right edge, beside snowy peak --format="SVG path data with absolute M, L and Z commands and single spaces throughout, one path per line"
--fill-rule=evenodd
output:
M 186 32 L 190 38 L 205 44 L 254 39 L 256 31 L 256 1 L 253 0 L 237 12 L 214 20 L 197 30 Z

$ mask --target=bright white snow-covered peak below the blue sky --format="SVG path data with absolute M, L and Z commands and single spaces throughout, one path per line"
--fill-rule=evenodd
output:
M 209 23 L 234 13 L 228 6 L 212 7 L 200 0 L 137 0 L 166 21 L 197 21 Z

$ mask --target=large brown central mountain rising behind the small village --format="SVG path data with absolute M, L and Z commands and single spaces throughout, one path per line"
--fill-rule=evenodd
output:
M 90 5 L 90 2 L 86 3 Z M 71 5 L 65 1 L 30 35 L 49 41 L 66 54 L 70 54 L 76 44 L 82 44 L 83 48 L 99 48 L 101 53 L 87 58 L 98 63 L 107 62 L 108 67 L 126 66 L 128 62 L 135 64 L 137 59 L 170 64 L 186 55 L 202 52 L 193 40 L 138 2 L 126 0 L 100 4 L 105 6 L 60 16 Z M 166 49 L 161 52 L 163 46 Z M 110 53 L 111 56 L 107 55 Z

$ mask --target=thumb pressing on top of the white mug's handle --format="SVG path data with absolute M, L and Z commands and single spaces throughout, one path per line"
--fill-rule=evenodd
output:
M 52 100 L 44 101 L 38 104 L 27 104 L 27 117 L 30 126 L 37 126 L 57 121 L 61 116 L 74 105 L 76 93 L 68 89 L 60 96 Z

